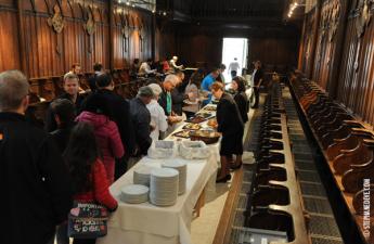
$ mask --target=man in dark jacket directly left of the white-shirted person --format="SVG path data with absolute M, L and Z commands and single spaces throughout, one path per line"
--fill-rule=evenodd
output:
M 140 88 L 137 98 L 130 101 L 130 113 L 137 141 L 136 156 L 146 155 L 152 144 L 151 113 L 146 108 L 146 104 L 149 104 L 153 98 L 154 93 L 152 89 L 145 86 Z

